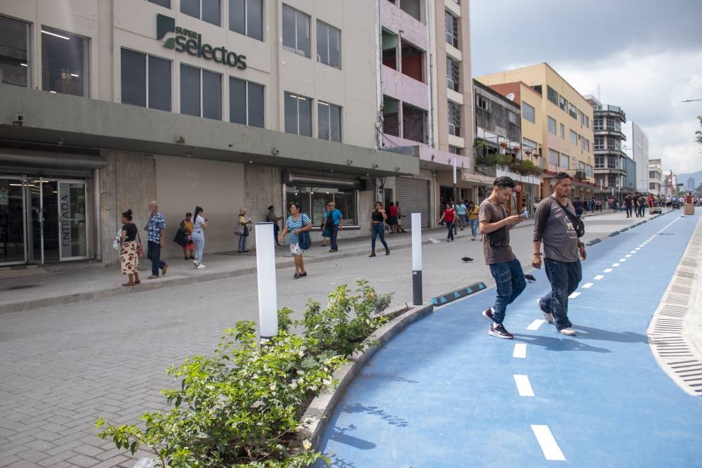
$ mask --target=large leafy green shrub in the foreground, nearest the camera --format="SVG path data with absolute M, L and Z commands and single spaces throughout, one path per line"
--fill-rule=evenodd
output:
M 135 425 L 100 418 L 98 436 L 135 453 L 147 446 L 162 467 L 306 467 L 322 457 L 295 441 L 300 406 L 325 386 L 343 358 L 311 353 L 318 344 L 281 330 L 258 346 L 256 324 L 239 322 L 222 337 L 215 357 L 193 356 L 168 375 L 180 388 L 164 389 L 167 412 L 148 412 Z

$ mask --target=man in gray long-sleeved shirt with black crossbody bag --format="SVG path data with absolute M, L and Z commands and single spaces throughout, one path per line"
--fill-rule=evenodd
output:
M 534 259 L 531 266 L 541 268 L 541 244 L 546 266 L 546 276 L 551 292 L 538 299 L 538 306 L 548 323 L 554 323 L 562 334 L 576 335 L 568 319 L 568 297 L 583 279 L 580 264 L 585 260 L 585 244 L 578 240 L 575 227 L 565 210 L 575 216 L 573 204 L 568 200 L 571 179 L 565 172 L 558 172 L 551 179 L 553 193 L 541 200 L 534 215 Z

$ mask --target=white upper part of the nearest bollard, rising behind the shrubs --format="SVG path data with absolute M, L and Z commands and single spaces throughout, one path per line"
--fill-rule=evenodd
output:
M 275 282 L 273 223 L 256 223 L 258 323 L 262 339 L 278 334 L 278 290 Z

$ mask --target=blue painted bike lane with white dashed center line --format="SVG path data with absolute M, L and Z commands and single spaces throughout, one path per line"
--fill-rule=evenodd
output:
M 319 449 L 357 468 L 702 466 L 702 398 L 646 337 L 699 219 L 680 214 L 588 249 L 577 337 L 540 323 L 543 271 L 508 308 L 514 340 L 487 334 L 494 288 L 407 327 L 349 386 Z

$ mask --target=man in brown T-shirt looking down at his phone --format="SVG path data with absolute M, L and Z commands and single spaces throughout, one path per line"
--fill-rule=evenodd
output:
M 522 216 L 508 216 L 505 209 L 516 185 L 509 177 L 496 178 L 491 195 L 480 204 L 478 216 L 485 263 L 490 266 L 497 289 L 494 306 L 487 308 L 482 315 L 490 322 L 488 334 L 505 339 L 514 338 L 503 325 L 507 306 L 527 287 L 522 264 L 510 247 L 510 228 L 522 221 Z

